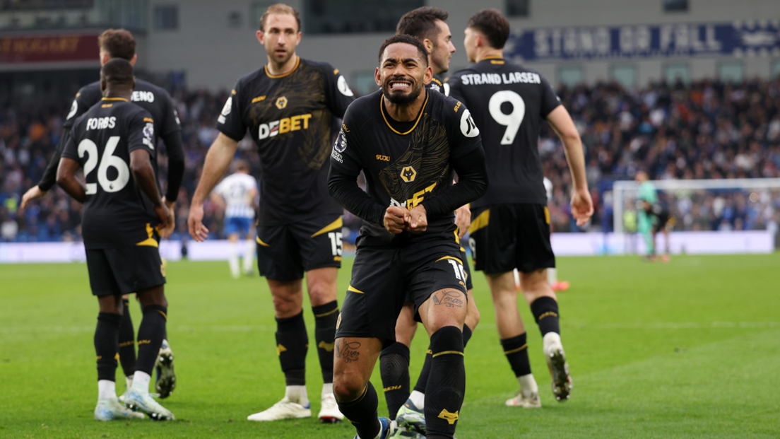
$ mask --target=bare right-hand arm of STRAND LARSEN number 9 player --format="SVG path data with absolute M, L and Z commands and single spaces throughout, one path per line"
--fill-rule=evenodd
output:
M 569 112 L 566 111 L 566 107 L 563 105 L 558 105 L 558 107 L 552 110 L 547 116 L 547 121 L 563 143 L 566 161 L 569 162 L 569 171 L 572 173 L 574 184 L 572 216 L 577 220 L 577 225 L 582 226 L 593 215 L 593 200 L 590 199 L 590 192 L 587 189 L 587 178 L 585 176 L 583 142 L 580 139 L 580 133 L 577 132 L 574 126 L 572 116 L 569 116 Z

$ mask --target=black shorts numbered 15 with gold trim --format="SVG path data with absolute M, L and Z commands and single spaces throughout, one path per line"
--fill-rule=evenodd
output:
M 303 279 L 310 269 L 341 267 L 340 215 L 303 219 L 279 226 L 257 227 L 257 267 L 268 279 Z

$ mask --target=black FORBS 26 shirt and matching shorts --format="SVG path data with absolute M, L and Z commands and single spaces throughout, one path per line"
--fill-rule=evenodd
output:
M 159 219 L 129 170 L 144 149 L 157 166 L 154 120 L 124 98 L 103 98 L 76 118 L 62 157 L 83 167 L 87 199 L 81 222 L 92 293 L 129 294 L 165 284 Z

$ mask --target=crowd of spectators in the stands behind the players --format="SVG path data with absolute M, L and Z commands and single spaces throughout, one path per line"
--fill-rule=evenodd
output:
M 780 177 L 780 79 L 651 84 L 633 91 L 608 83 L 561 87 L 558 95 L 582 135 L 596 206 L 591 230 L 611 230 L 609 183 L 631 180 L 640 169 L 651 180 Z M 207 148 L 217 137 L 215 121 L 227 94 L 175 90 L 172 96 L 186 153 L 176 235 L 185 237 L 190 198 Z M 69 102 L 26 109 L 6 103 L 0 110 L 0 240 L 80 239 L 82 207 L 58 187 L 20 210 L 22 195 L 41 178 L 59 141 L 68 108 Z M 554 187 L 549 203 L 554 230 L 576 231 L 569 212 L 571 175 L 563 147 L 546 123 L 539 148 L 544 174 Z M 165 148 L 159 151 L 165 187 Z M 245 138 L 238 155 L 252 163 L 251 173 L 259 177 L 254 143 Z M 667 198 L 678 217 L 677 230 L 777 230 L 780 222 L 776 190 L 679 192 Z M 209 202 L 204 208 L 204 224 L 219 236 L 222 212 Z M 356 230 L 359 220 L 346 213 L 345 223 Z

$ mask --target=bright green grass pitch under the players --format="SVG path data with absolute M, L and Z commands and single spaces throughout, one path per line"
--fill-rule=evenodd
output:
M 351 259 L 339 274 L 339 304 Z M 466 348 L 467 391 L 458 437 L 778 437 L 780 254 L 562 258 L 562 337 L 573 373 L 555 402 L 541 337 L 527 305 L 532 367 L 543 409 L 504 406 L 517 383 L 495 333 L 487 284 L 475 273 L 482 320 Z M 231 280 L 224 262 L 168 264 L 168 334 L 179 384 L 163 405 L 175 422 L 92 418 L 97 301 L 87 267 L 0 266 L 0 437 L 353 437 L 349 423 L 314 417 L 254 423 L 282 398 L 271 295 L 264 280 Z M 310 341 L 314 321 L 304 302 Z M 131 303 L 133 323 L 141 313 Z M 412 348 L 412 384 L 427 337 Z M 321 377 L 307 359 L 312 412 Z M 123 391 L 121 369 L 117 390 Z M 381 389 L 378 369 L 374 386 Z M 386 415 L 380 395 L 381 415 Z

